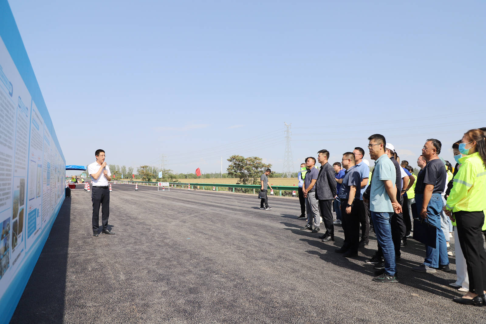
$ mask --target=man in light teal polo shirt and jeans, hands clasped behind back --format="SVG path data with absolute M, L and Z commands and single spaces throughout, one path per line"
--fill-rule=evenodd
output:
M 396 170 L 392 161 L 385 153 L 386 140 L 380 134 L 368 137 L 369 155 L 375 160 L 373 179 L 371 181 L 369 209 L 373 221 L 376 239 L 382 247 L 385 259 L 385 269 L 379 271 L 373 281 L 398 282 L 397 265 L 395 263 L 395 248 L 393 245 L 390 220 L 393 212 L 401 213 L 401 206 L 397 201 L 397 187 L 395 186 Z

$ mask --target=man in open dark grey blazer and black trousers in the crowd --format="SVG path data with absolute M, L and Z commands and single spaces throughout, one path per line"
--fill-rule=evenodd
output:
M 319 211 L 322 216 L 326 233 L 320 237 L 323 242 L 334 241 L 334 224 L 332 221 L 332 200 L 336 197 L 336 174 L 334 168 L 328 163 L 329 151 L 320 150 L 317 161 L 321 164 L 319 175 L 315 183 L 315 198 L 319 200 Z

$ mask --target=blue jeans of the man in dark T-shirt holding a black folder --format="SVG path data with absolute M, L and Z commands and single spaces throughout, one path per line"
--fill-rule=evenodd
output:
M 423 200 L 423 194 L 415 195 L 418 214 L 420 214 L 420 211 L 422 211 Z M 425 246 L 426 255 L 423 264 L 431 268 L 438 268 L 439 265 L 443 266 L 449 264 L 446 238 L 444 237 L 444 232 L 440 228 L 440 214 L 443 206 L 442 196 L 440 193 L 433 193 L 432 197 L 430 198 L 429 205 L 427 205 L 427 219 L 424 220 L 437 228 L 435 235 L 435 248 L 428 245 Z

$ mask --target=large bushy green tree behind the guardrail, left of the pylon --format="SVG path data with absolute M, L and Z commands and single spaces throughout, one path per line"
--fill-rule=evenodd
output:
M 261 174 L 272 167 L 271 164 L 263 163 L 258 156 L 232 155 L 227 161 L 229 162 L 226 169 L 228 177 L 238 178 L 237 184 L 243 185 L 258 185 Z

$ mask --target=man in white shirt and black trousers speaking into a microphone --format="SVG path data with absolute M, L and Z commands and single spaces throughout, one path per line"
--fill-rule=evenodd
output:
M 93 202 L 93 236 L 98 236 L 100 226 L 100 205 L 101 222 L 103 223 L 103 234 L 115 234 L 108 229 L 108 217 L 110 215 L 110 190 L 108 181 L 111 181 L 110 168 L 104 162 L 105 153 L 103 150 L 96 150 L 94 153 L 96 162 L 88 165 L 88 174 L 91 177 L 91 201 Z

